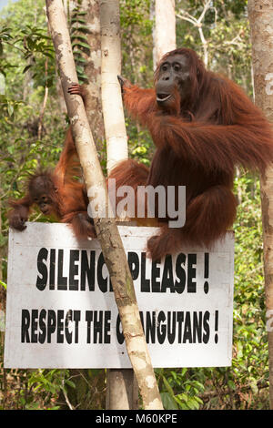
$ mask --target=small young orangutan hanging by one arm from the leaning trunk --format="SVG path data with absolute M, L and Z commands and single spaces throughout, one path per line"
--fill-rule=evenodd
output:
M 86 93 L 82 87 L 72 86 L 68 89 L 71 94 L 84 98 Z M 83 183 L 73 178 L 79 168 L 76 147 L 71 127 L 66 133 L 65 147 L 53 171 L 37 171 L 27 183 L 27 193 L 23 199 L 11 200 L 8 212 L 9 224 L 17 230 L 26 228 L 30 209 L 33 205 L 45 216 L 53 217 L 63 223 L 70 223 L 76 237 L 94 237 L 93 220 L 87 215 L 88 198 Z

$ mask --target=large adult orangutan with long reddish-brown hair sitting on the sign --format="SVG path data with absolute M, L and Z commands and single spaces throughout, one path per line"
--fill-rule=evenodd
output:
M 149 170 L 121 162 L 110 175 L 116 188 L 186 186 L 186 224 L 169 228 L 167 218 L 159 219 L 160 233 L 147 242 L 151 258 L 186 244 L 212 246 L 236 217 L 235 166 L 263 172 L 273 160 L 270 125 L 235 83 L 207 71 L 191 49 L 163 56 L 153 89 L 118 78 L 128 113 L 148 128 L 157 150 Z

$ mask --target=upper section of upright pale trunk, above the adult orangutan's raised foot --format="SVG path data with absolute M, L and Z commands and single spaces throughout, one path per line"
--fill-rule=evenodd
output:
M 100 0 L 101 90 L 107 145 L 107 171 L 128 158 L 124 110 L 117 75 L 121 74 L 119 3 Z

